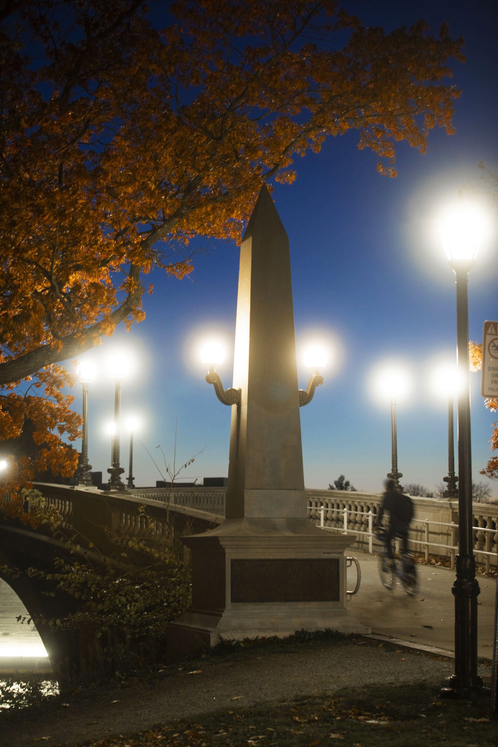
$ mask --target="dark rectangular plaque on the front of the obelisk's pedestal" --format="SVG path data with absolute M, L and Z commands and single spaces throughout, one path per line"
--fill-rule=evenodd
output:
M 339 601 L 339 560 L 232 560 L 231 601 Z

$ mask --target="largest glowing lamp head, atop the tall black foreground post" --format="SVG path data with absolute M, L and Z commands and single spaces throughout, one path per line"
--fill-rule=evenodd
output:
M 439 232 L 449 261 L 472 262 L 479 252 L 485 229 L 485 214 L 475 205 L 462 203 L 446 211 Z

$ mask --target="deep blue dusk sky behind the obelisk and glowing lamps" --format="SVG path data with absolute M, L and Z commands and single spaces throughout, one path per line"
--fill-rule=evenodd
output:
M 161 8 L 161 6 L 160 6 Z M 379 492 L 390 470 L 390 406 L 373 395 L 373 369 L 387 359 L 404 362 L 412 389 L 398 404 L 398 454 L 402 483 L 441 483 L 447 471 L 446 400 L 429 390 L 435 362 L 455 359 L 455 279 L 435 239 L 438 207 L 464 182 L 478 180 L 479 161 L 498 163 L 498 6 L 495 1 L 364 1 L 352 8 L 369 25 L 390 31 L 426 19 L 437 34 L 449 20 L 450 34 L 463 34 L 467 62 L 454 63 L 456 134 L 432 131 L 426 155 L 397 146 L 396 179 L 379 176 L 377 158 L 357 147 L 354 131 L 329 138 L 318 155 L 296 160 L 298 178 L 276 185 L 273 198 L 290 239 L 299 385 L 308 371 L 302 350 L 308 339 L 330 345 L 332 359 L 314 401 L 301 410 L 307 487 L 326 488 L 345 474 L 357 489 Z M 166 25 L 154 11 L 155 23 Z M 496 222 L 496 217 L 495 217 Z M 482 323 L 498 319 L 498 255 L 494 236 L 470 273 L 470 338 L 480 341 Z M 111 350 L 128 350 L 134 376 L 123 384 L 123 416 L 141 422 L 136 436 L 137 486 L 161 479 L 140 441 L 161 444 L 186 461 L 205 447 L 187 477 L 226 476 L 230 409 L 205 383 L 200 341 L 215 332 L 233 348 L 238 247 L 202 241 L 190 279 L 152 275 L 146 320 L 124 329 L 87 353 L 98 365 Z M 231 385 L 232 359 L 219 367 Z M 472 379 L 473 477 L 488 461 L 493 414 Z M 74 391 L 74 390 L 73 390 Z M 89 457 L 105 471 L 111 447 L 103 433 L 112 418 L 113 385 L 102 374 L 90 390 Z M 80 394 L 77 392 L 79 404 Z M 495 415 L 496 418 L 496 415 Z M 128 468 L 126 437 L 122 459 Z M 497 488 L 493 485 L 494 495 Z

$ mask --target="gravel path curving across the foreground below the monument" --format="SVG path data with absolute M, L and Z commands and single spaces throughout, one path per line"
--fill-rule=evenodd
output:
M 489 665 L 480 666 L 489 675 Z M 169 666 L 158 675 L 82 688 L 54 702 L 0 716 L 2 743 L 25 747 L 84 744 L 136 733 L 159 722 L 230 708 L 247 712 L 269 701 L 331 693 L 348 686 L 441 685 L 453 662 L 361 637 L 313 639 L 231 648 Z

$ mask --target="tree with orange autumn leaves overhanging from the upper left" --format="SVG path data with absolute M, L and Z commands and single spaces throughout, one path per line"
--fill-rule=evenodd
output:
M 143 320 L 152 268 L 189 273 L 196 235 L 238 241 L 261 184 L 293 182 L 328 135 L 357 130 L 395 176 L 396 142 L 424 152 L 432 128 L 453 131 L 458 90 L 441 81 L 463 40 L 446 25 L 385 34 L 340 0 L 169 10 L 160 33 L 140 0 L 0 7 L 0 439 L 34 419 L 65 474 L 78 418 L 57 364 Z M 31 377 L 37 402 L 19 394 Z

